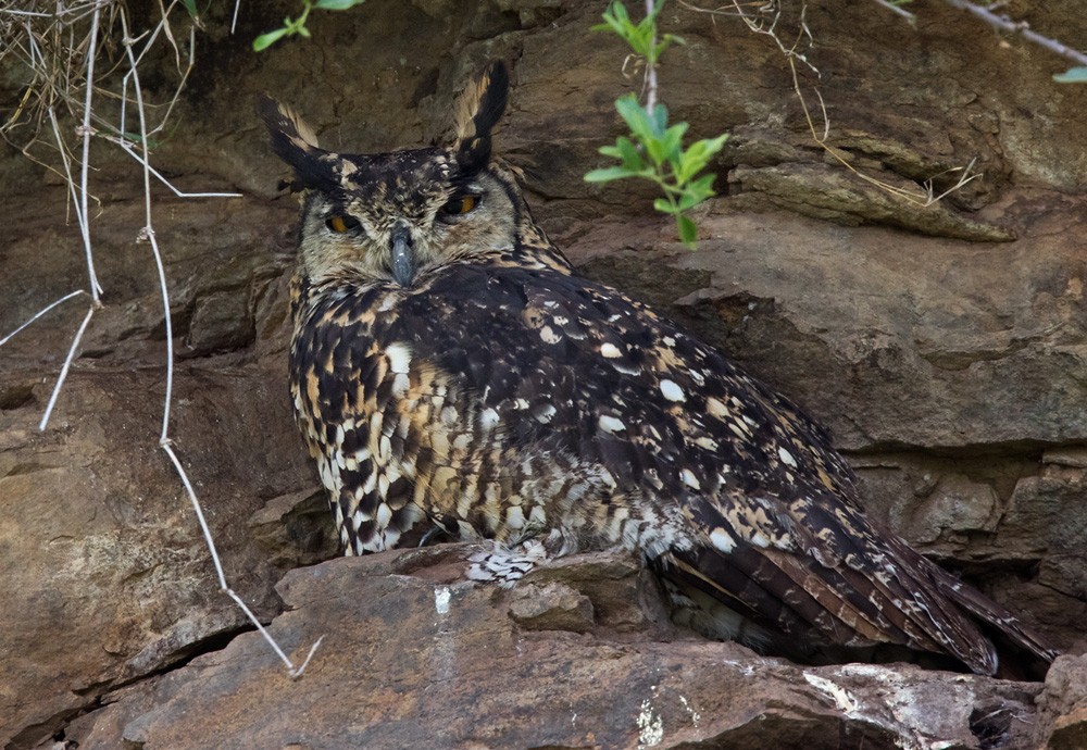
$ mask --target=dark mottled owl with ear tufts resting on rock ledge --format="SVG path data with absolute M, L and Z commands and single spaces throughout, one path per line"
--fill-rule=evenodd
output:
M 470 576 L 622 548 L 678 622 L 809 662 L 884 646 L 980 674 L 1054 652 L 882 532 L 796 404 L 647 304 L 578 276 L 491 157 L 507 68 L 447 146 L 318 148 L 263 99 L 305 190 L 290 395 L 348 554 L 490 540 Z M 414 537 L 411 537 L 415 534 Z

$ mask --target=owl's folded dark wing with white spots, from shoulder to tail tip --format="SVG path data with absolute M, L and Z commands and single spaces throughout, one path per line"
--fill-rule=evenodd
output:
M 433 362 L 474 414 L 493 414 L 507 461 L 541 447 L 574 455 L 603 467 L 627 502 L 682 517 L 672 537 L 648 529 L 644 552 L 760 624 L 950 653 L 991 674 L 973 615 L 1052 658 L 1009 613 L 949 589 L 950 576 L 875 529 L 852 473 L 796 405 L 617 291 L 454 265 L 375 330 Z

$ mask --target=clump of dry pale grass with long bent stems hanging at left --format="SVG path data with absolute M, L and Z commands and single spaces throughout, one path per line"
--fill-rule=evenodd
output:
M 34 3 L 32 0 L 22 0 L 22 2 L 14 0 L 12 4 L 33 5 Z M 13 336 L 63 302 L 84 293 L 91 297 L 91 305 L 73 337 L 67 357 L 39 423 L 39 429 L 46 429 L 62 386 L 79 350 L 83 336 L 90 324 L 95 310 L 101 307 L 102 286 L 95 272 L 93 248 L 90 238 L 89 204 L 93 200 L 89 191 L 90 141 L 91 138 L 98 137 L 118 146 L 141 166 L 143 226 L 138 232 L 137 240 L 147 241 L 150 246 L 151 257 L 158 273 L 165 321 L 166 391 L 163 399 L 159 445 L 173 464 L 196 512 L 200 530 L 215 567 L 220 588 L 261 633 L 285 664 L 288 674 L 291 677 L 299 677 L 321 643 L 321 639 L 317 639 L 310 648 L 304 661 L 300 665 L 296 665 L 258 621 L 241 597 L 229 587 L 203 510 L 192 488 L 192 483 L 174 451 L 170 437 L 174 389 L 173 322 L 165 268 L 153 226 L 151 177 L 154 176 L 179 197 L 230 197 L 238 195 L 183 192 L 155 171 L 150 163 L 150 139 L 162 133 L 171 121 L 174 108 L 195 62 L 195 28 L 199 25 L 199 20 L 193 20 L 193 26 L 189 28 L 187 39 L 188 51 L 183 52 L 170 23 L 171 12 L 176 8 L 183 8 L 180 0 L 172 0 L 167 4 L 163 4 L 160 0 L 158 2 L 158 23 L 154 24 L 153 28 L 137 37 L 129 34 L 128 15 L 120 0 L 59 0 L 55 10 L 50 13 L 29 8 L 0 9 L 0 61 L 5 55 L 14 55 L 16 63 L 30 72 L 30 80 L 20 98 L 17 108 L 7 121 L 0 122 L 0 135 L 16 146 L 29 159 L 45 164 L 64 179 L 71 201 L 70 207 L 79 225 L 88 277 L 87 290 L 80 289 L 70 292 L 46 305 L 15 330 L 0 339 L 0 346 L 7 343 Z M 237 5 L 235 13 L 237 13 Z M 102 49 L 103 47 L 108 47 L 110 50 L 114 49 L 111 47 L 111 42 L 115 43 L 118 27 L 123 55 L 114 61 L 113 68 L 99 71 L 97 63 L 104 60 Z M 145 101 L 139 79 L 139 67 L 145 60 L 149 59 L 148 55 L 152 49 L 161 48 L 163 45 L 173 51 L 178 82 L 168 101 L 157 107 L 152 102 Z M 108 82 L 114 79 L 115 74 L 120 74 L 125 63 L 127 63 L 127 71 L 121 78 L 120 90 L 114 90 L 110 88 Z M 96 101 L 100 99 L 118 102 L 120 117 L 116 124 L 108 122 L 96 111 Z M 126 115 L 129 107 L 135 108 L 138 116 L 139 124 L 136 128 L 138 135 L 129 134 L 126 127 Z M 161 113 L 161 115 L 157 115 L 153 126 L 149 123 L 148 117 L 148 113 L 152 110 Z M 64 137 L 64 128 L 61 123 L 65 118 L 77 123 L 73 130 L 78 147 L 73 147 Z M 55 143 L 57 154 L 53 157 L 35 153 L 37 147 L 50 147 L 50 143 L 39 138 L 46 122 L 48 122 L 52 140 Z M 16 137 L 18 137 L 17 141 Z M 49 163 L 51 161 L 57 163 Z

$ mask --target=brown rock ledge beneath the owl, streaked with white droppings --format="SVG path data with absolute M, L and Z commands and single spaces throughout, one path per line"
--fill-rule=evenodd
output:
M 453 549 L 463 558 L 468 548 Z M 441 564 L 448 553 L 393 551 L 293 571 L 278 587 L 288 611 L 270 632 L 295 659 L 324 636 L 300 679 L 247 634 L 138 692 L 110 697 L 101 725 L 85 717 L 67 737 L 82 750 L 123 741 L 183 750 L 209 736 L 224 748 L 313 750 L 920 750 L 976 748 L 985 732 L 1002 733 L 1002 747 L 1029 738 L 1039 686 L 912 666 L 798 667 L 735 643 L 525 632 L 509 616 L 511 603 L 537 598 L 547 609 L 558 585 L 502 591 L 395 573 L 420 570 L 427 557 Z M 589 579 L 611 564 L 584 555 L 565 566 Z

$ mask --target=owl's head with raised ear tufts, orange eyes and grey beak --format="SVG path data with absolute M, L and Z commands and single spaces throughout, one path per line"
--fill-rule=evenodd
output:
M 259 110 L 272 148 L 309 191 L 303 277 L 411 287 L 450 260 L 512 250 L 524 201 L 490 159 L 508 89 L 505 65 L 492 63 L 461 97 L 453 143 L 382 154 L 321 149 L 301 120 L 264 97 Z

